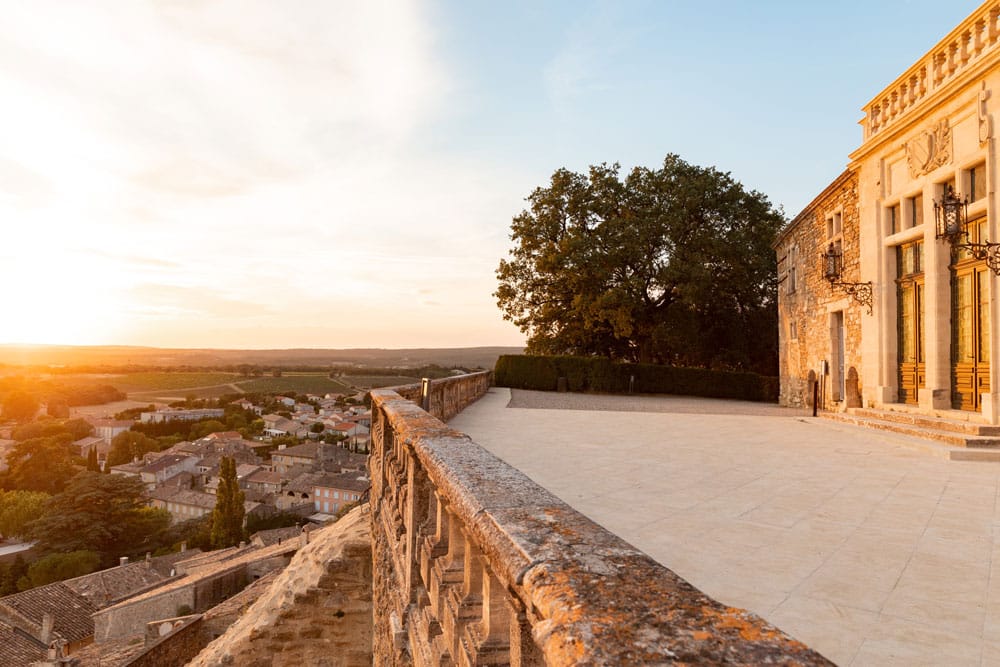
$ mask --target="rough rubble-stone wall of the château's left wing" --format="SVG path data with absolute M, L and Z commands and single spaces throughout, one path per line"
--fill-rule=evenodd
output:
M 824 190 L 781 233 L 778 253 L 778 374 L 781 392 L 778 402 L 791 407 L 811 407 L 813 381 L 820 377 L 823 360 L 834 363 L 832 313 L 842 311 L 845 331 L 844 372 L 852 380 L 861 377 L 861 315 L 867 308 L 843 289 L 831 286 L 823 276 L 821 256 L 831 237 L 828 219 L 841 216 L 842 232 L 834 236 L 843 249 L 844 282 L 860 281 L 858 177 L 845 171 Z M 794 278 L 793 278 L 794 274 Z M 794 290 L 792 283 L 794 281 Z M 851 373 L 850 369 L 855 369 Z M 835 376 L 826 375 L 820 387 L 827 410 L 844 407 L 837 395 Z M 860 382 L 860 380 L 859 380 Z M 852 398 L 861 387 L 848 387 Z M 856 402 L 856 401 L 853 401 Z

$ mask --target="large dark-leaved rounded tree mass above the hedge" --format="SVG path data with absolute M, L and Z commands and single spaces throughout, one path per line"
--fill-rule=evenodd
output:
M 514 218 L 494 296 L 528 352 L 773 375 L 781 212 L 676 155 L 619 172 L 560 169 Z

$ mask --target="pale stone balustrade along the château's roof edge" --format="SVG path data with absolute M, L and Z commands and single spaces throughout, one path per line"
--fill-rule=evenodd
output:
M 987 3 L 863 107 L 864 140 L 877 135 L 961 73 L 984 62 L 998 43 L 1000 3 Z

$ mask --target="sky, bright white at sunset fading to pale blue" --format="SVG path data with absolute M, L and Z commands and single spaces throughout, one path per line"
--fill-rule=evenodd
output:
M 978 4 L 0 0 L 0 343 L 521 345 L 553 171 L 676 153 L 792 217 Z

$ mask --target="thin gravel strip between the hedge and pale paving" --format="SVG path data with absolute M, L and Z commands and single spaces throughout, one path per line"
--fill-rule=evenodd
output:
M 508 408 L 541 410 L 606 410 L 611 412 L 674 412 L 682 414 L 759 415 L 794 417 L 806 410 L 783 408 L 774 403 L 733 401 L 720 398 L 672 396 L 668 394 L 620 396 L 574 394 L 553 391 L 511 389 Z

